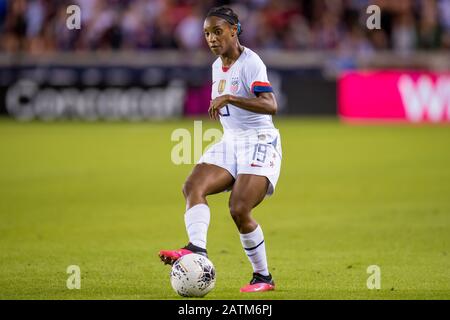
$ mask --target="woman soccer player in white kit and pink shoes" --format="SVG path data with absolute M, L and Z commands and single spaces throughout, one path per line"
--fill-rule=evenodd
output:
M 264 235 L 252 217 L 255 208 L 273 194 L 281 167 L 281 144 L 272 122 L 277 102 L 260 57 L 242 46 L 238 16 L 232 9 L 216 7 L 208 12 L 204 35 L 218 56 L 212 65 L 212 119 L 220 119 L 222 140 L 201 157 L 183 186 L 184 220 L 189 244 L 178 250 L 161 250 L 166 264 L 198 253 L 207 255 L 206 236 L 210 209 L 206 197 L 231 190 L 229 209 L 242 246 L 253 267 L 253 278 L 241 292 L 275 289 L 267 266 Z

